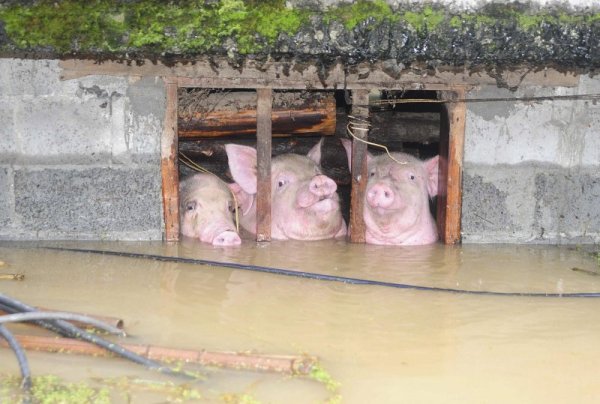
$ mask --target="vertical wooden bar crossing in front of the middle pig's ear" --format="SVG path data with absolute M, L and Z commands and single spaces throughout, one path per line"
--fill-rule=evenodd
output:
M 271 240 L 271 112 L 273 90 L 259 88 L 256 104 L 256 241 Z

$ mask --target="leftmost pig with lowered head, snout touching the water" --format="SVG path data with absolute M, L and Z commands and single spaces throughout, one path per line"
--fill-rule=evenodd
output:
M 235 205 L 229 186 L 208 173 L 179 183 L 181 234 L 214 246 L 240 245 L 234 224 Z

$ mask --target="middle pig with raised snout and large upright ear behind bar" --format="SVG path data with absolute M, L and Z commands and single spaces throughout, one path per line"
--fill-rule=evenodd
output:
M 241 208 L 240 224 L 256 234 L 256 149 L 227 144 L 229 169 Z M 347 227 L 337 185 L 321 172 L 321 141 L 306 156 L 284 154 L 271 162 L 271 238 L 322 240 L 342 237 Z

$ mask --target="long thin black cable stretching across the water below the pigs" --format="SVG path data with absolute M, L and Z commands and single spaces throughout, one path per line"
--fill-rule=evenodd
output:
M 580 293 L 532 293 L 532 292 L 492 292 L 485 290 L 463 290 L 463 289 L 451 289 L 451 288 L 437 288 L 432 286 L 419 286 L 409 285 L 405 283 L 394 283 L 376 281 L 370 279 L 350 278 L 346 276 L 326 275 L 314 272 L 304 271 L 292 271 L 289 269 L 264 267 L 259 265 L 246 265 L 237 264 L 233 262 L 219 262 L 211 260 L 202 260 L 195 258 L 183 258 L 183 257 L 169 257 L 164 255 L 153 255 L 143 253 L 132 253 L 124 251 L 107 251 L 107 250 L 93 250 L 93 249 L 79 249 L 79 248 L 64 248 L 64 247 L 41 247 L 47 250 L 56 251 L 68 251 L 68 252 L 79 252 L 88 254 L 102 254 L 102 255 L 113 255 L 118 257 L 127 258 L 141 258 L 151 259 L 155 261 L 164 262 L 178 262 L 184 264 L 196 264 L 196 265 L 207 265 L 216 267 L 225 267 L 232 269 L 240 269 L 245 271 L 255 271 L 262 273 L 269 273 L 275 275 L 293 276 L 298 278 L 314 279 L 319 281 L 330 281 L 330 282 L 341 282 L 352 285 L 368 285 L 368 286 L 383 286 L 388 288 L 396 289 L 413 289 L 427 292 L 446 292 L 446 293 L 458 293 L 468 295 L 484 295 L 484 296 L 518 296 L 518 297 L 600 297 L 600 292 L 580 292 Z

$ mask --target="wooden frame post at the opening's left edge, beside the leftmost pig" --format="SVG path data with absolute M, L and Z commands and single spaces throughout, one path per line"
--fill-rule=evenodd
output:
M 177 83 L 165 79 L 167 109 L 161 136 L 161 175 L 163 212 L 165 221 L 164 239 L 179 240 L 179 171 L 177 166 Z

